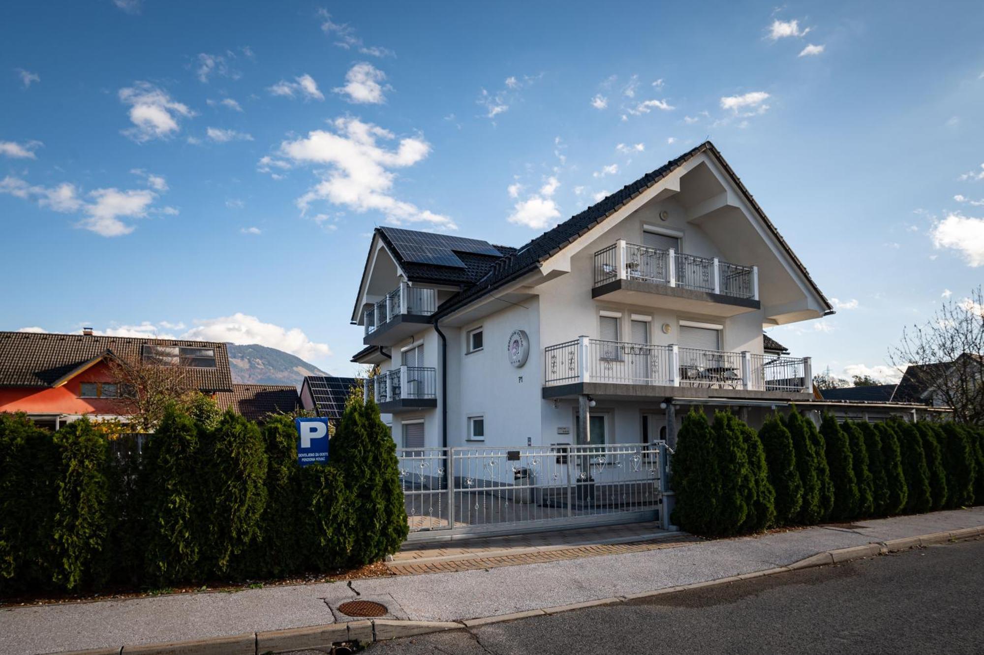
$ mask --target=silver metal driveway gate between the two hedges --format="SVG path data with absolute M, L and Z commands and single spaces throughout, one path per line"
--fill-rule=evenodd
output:
M 408 541 L 656 520 L 666 445 L 397 448 Z

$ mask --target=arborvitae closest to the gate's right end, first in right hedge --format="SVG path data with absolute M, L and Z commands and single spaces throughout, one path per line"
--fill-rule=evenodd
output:
M 712 534 L 720 484 L 704 412 L 692 408 L 684 416 L 670 469 L 669 487 L 676 501 L 670 520 L 687 532 Z

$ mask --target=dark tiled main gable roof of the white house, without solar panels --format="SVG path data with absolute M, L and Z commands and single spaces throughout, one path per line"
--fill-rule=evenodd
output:
M 680 165 L 686 163 L 702 152 L 710 152 L 717 158 L 735 185 L 745 195 L 745 198 L 748 200 L 749 204 L 752 205 L 752 207 L 758 212 L 763 222 L 769 228 L 772 236 L 775 237 L 792 262 L 803 273 L 803 276 L 806 278 L 807 282 L 827 306 L 828 311 L 832 313 L 833 308 L 830 305 L 830 301 L 820 290 L 820 287 L 817 286 L 817 283 L 810 276 L 810 273 L 807 271 L 806 267 L 803 266 L 803 263 L 799 261 L 799 258 L 797 258 L 792 249 L 789 248 L 789 244 L 786 243 L 785 239 L 782 238 L 778 230 L 775 229 L 775 226 L 769 220 L 766 212 L 759 207 L 758 203 L 755 202 L 752 194 L 748 192 L 745 185 L 742 184 L 738 176 L 735 175 L 734 171 L 731 169 L 731 166 L 729 166 L 727 161 L 724 160 L 724 157 L 721 156 L 721 153 L 714 148 L 713 144 L 706 141 L 700 146 L 685 152 L 679 157 L 667 161 L 659 168 L 646 173 L 646 175 L 639 178 L 632 184 L 623 187 L 620 191 L 616 191 L 607 198 L 602 199 L 600 202 L 584 209 L 581 213 L 575 214 L 571 218 L 568 218 L 563 223 L 560 223 L 553 229 L 544 232 L 515 252 L 507 254 L 501 260 L 496 262 L 492 269 L 478 279 L 473 286 L 461 291 L 452 298 L 448 299 L 446 302 L 442 303 L 436 316 L 446 316 L 468 304 L 472 300 L 475 300 L 476 298 L 492 291 L 493 289 L 496 289 L 514 279 L 522 277 L 524 274 L 538 268 L 539 265 L 547 258 L 551 257 L 565 246 L 576 241 L 589 229 L 597 225 L 615 211 L 624 207 L 630 201 L 634 200 L 637 196 L 646 191 L 646 189 L 655 185 Z

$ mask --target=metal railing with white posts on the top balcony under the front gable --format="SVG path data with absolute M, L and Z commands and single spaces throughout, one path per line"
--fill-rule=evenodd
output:
M 759 269 L 717 258 L 648 248 L 619 239 L 594 254 L 594 286 L 616 279 L 638 279 L 666 286 L 759 299 Z

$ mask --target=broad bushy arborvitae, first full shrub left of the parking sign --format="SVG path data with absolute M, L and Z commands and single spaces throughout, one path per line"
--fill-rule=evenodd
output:
M 231 409 L 206 434 L 202 449 L 210 493 L 206 570 L 238 577 L 244 573 L 240 556 L 260 537 L 260 518 L 267 505 L 267 448 L 256 423 Z

